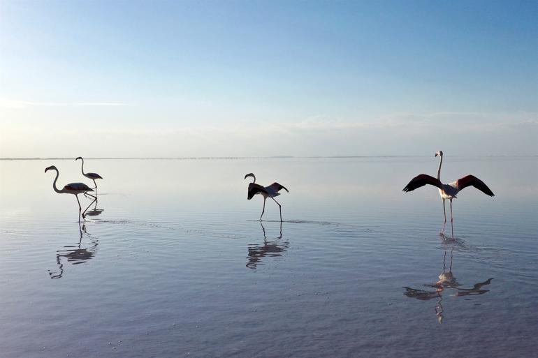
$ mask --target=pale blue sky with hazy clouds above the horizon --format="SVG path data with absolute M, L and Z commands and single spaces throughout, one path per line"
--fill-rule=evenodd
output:
M 538 1 L 0 1 L 0 156 L 538 154 Z

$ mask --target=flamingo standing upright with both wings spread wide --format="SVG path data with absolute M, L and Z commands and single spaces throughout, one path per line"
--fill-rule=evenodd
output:
M 486 184 L 484 184 L 484 181 L 481 181 L 477 177 L 474 177 L 474 175 L 466 175 L 463 178 L 460 178 L 453 183 L 449 184 L 442 184 L 441 182 L 441 165 L 443 163 L 443 152 L 437 151 L 435 153 L 435 156 L 441 157 L 441 162 L 439 163 L 439 170 L 437 170 L 437 178 L 430 177 L 428 174 L 420 174 L 414 177 L 411 181 L 409 181 L 409 184 L 403 188 L 403 191 L 414 191 L 416 188 L 420 188 L 421 186 L 425 186 L 426 184 L 430 184 L 432 186 L 437 186 L 439 188 L 439 195 L 441 195 L 441 199 L 443 200 L 443 213 L 444 213 L 444 223 L 443 223 L 443 230 L 441 234 L 444 236 L 444 228 L 446 227 L 446 209 L 444 205 L 444 200 L 448 199 L 450 200 L 450 223 L 452 226 L 452 238 L 454 237 L 454 225 L 453 225 L 453 216 L 452 216 L 452 199 L 457 199 L 456 196 L 460 191 L 462 191 L 464 188 L 467 188 L 467 186 L 474 186 L 482 193 L 489 195 L 489 196 L 495 196 L 493 194 L 493 191 L 488 188 Z

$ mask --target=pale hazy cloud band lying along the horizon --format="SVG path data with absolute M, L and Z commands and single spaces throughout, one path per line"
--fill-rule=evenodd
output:
M 94 156 L 393 155 L 439 148 L 453 154 L 535 155 L 537 130 L 535 112 L 406 113 L 368 121 L 318 115 L 288 123 L 57 125 L 54 130 L 0 121 L 0 154 L 55 156 L 92 138 L 99 139 Z

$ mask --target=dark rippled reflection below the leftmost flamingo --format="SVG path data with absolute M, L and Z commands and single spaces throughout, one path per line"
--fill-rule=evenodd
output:
M 87 260 L 93 258 L 96 254 L 99 239 L 96 239 L 95 237 L 92 237 L 91 234 L 87 233 L 85 224 L 80 226 L 79 223 L 78 229 L 80 232 L 78 243 L 75 245 L 64 246 L 64 248 L 56 251 L 56 263 L 58 265 L 58 269 L 56 272 L 49 270 L 50 278 L 61 278 L 64 276 L 64 264 L 62 263 L 63 260 L 66 260 L 71 264 L 83 264 L 87 262 Z M 83 237 L 87 237 L 89 239 L 89 242 L 87 242 L 85 248 L 82 247 Z

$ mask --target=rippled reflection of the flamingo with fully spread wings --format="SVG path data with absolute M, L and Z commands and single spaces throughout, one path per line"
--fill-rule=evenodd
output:
M 430 299 L 437 299 L 437 302 L 435 304 L 435 315 L 437 316 L 437 320 L 439 321 L 439 323 L 442 323 L 444 319 L 444 313 L 443 313 L 443 296 L 444 295 L 449 294 L 453 297 L 465 297 L 469 295 L 484 294 L 486 292 L 489 292 L 489 290 L 483 290 L 482 287 L 485 285 L 489 285 L 491 283 L 491 280 L 493 280 L 493 278 L 488 278 L 484 282 L 475 283 L 472 288 L 461 287 L 461 284 L 458 282 L 458 279 L 453 274 L 452 264 L 453 264 L 454 245 L 460 246 L 462 242 L 460 241 L 450 242 L 449 240 L 445 240 L 444 244 L 449 244 L 450 247 L 445 246 L 444 248 L 443 271 L 438 276 L 439 281 L 435 283 L 427 283 L 424 285 L 426 287 L 432 288 L 433 290 L 419 290 L 416 288 L 404 287 L 405 288 L 404 294 L 407 297 L 419 299 L 421 301 L 429 301 Z M 450 250 L 450 259 L 449 259 L 449 262 L 447 262 L 446 254 L 448 253 L 449 250 Z

